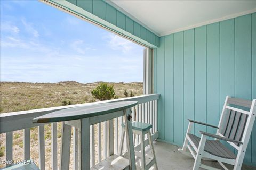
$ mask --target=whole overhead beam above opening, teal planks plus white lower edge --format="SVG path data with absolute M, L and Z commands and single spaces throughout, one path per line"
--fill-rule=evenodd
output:
M 159 37 L 103 0 L 43 0 L 61 6 L 140 44 L 159 47 Z

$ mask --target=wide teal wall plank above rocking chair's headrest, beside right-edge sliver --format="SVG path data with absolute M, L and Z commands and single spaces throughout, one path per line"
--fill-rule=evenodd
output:
M 235 19 L 235 96 L 252 98 L 251 15 Z M 247 146 L 246 162 L 251 162 L 251 139 Z

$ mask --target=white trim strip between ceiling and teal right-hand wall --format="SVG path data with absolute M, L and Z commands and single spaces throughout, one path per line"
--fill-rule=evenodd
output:
M 207 24 L 211 24 L 211 23 L 215 23 L 215 22 L 220 22 L 220 21 L 236 18 L 238 16 L 243 16 L 243 15 L 251 14 L 251 13 L 254 13 L 254 12 L 256 12 L 256 8 L 254 8 L 253 10 L 249 10 L 249 11 L 244 11 L 244 12 L 239 12 L 239 13 L 232 14 L 232 15 L 227 15 L 227 16 L 224 16 L 224 17 L 221 17 L 221 18 L 218 18 L 218 19 L 197 23 L 197 24 L 194 24 L 194 25 L 190 25 L 188 27 L 183 27 L 183 28 L 179 28 L 179 29 L 163 32 L 163 33 L 160 33 L 159 36 L 162 37 L 162 36 L 170 35 L 171 33 L 176 33 L 176 32 L 180 32 L 180 31 L 185 31 L 185 30 L 201 27 L 201 26 L 204 26 L 204 25 L 207 25 Z

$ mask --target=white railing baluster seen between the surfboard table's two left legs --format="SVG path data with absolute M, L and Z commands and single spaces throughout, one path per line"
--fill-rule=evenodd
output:
M 78 170 L 78 129 L 75 127 L 73 127 L 73 169 Z

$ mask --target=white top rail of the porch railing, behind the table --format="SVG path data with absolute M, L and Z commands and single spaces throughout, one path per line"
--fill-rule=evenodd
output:
M 44 114 L 51 113 L 54 111 L 58 111 L 60 109 L 71 108 L 76 106 L 89 106 L 89 105 L 116 102 L 116 101 L 138 101 L 138 104 L 141 104 L 141 103 L 146 103 L 152 100 L 158 100 L 159 96 L 160 94 L 149 94 L 149 95 L 141 95 L 141 96 L 127 97 L 127 98 L 120 98 L 120 99 L 113 99 L 113 100 L 96 101 L 92 103 L 33 109 L 29 111 L 2 113 L 0 114 L 0 133 L 11 132 L 15 130 L 26 129 L 26 128 L 37 126 L 36 124 L 32 123 L 33 118 L 42 116 Z

